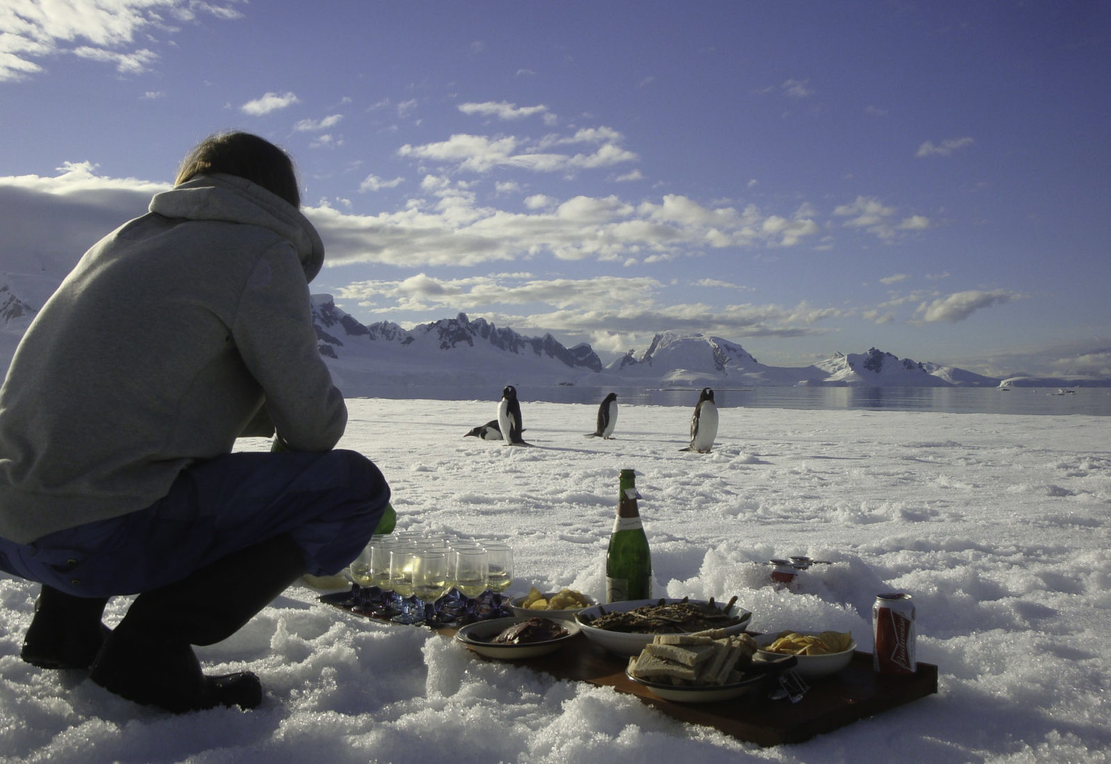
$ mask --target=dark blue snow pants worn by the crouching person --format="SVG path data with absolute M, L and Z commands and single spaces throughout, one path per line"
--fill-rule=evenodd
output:
M 328 575 L 358 556 L 389 500 L 356 451 L 230 453 L 186 469 L 146 510 L 30 544 L 0 539 L 0 569 L 77 596 L 137 594 L 288 533 L 307 572 Z

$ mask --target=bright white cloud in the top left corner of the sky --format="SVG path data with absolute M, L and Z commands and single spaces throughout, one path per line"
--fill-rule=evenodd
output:
M 137 39 L 157 42 L 157 36 L 178 31 L 171 22 L 194 22 L 198 11 L 218 19 L 239 18 L 233 6 L 234 0 L 3 2 L 0 82 L 39 74 L 40 60 L 62 53 L 111 63 L 123 74 L 142 73 L 159 57 L 148 48 L 130 50 Z

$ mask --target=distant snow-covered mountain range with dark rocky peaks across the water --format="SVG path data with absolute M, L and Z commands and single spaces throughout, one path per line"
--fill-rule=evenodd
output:
M 28 260 L 29 258 L 29 260 Z M 22 332 L 68 269 L 42 255 L 7 262 L 0 272 L 0 371 L 7 369 Z M 19 260 L 19 258 L 17 258 Z M 1001 380 L 955 366 L 900 359 L 875 348 L 834 353 L 809 366 L 769 366 L 741 345 L 719 336 L 667 331 L 649 348 L 603 364 L 587 343 L 565 348 L 551 334 L 524 336 L 464 313 L 413 329 L 391 322 L 362 324 L 336 306 L 329 294 L 312 296 L 320 353 L 344 394 L 372 395 L 383 384 L 563 384 L 583 386 L 1111 386 L 1111 379 L 1030 378 Z

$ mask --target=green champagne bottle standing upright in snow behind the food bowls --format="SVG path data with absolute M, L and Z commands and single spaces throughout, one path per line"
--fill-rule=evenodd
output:
M 652 556 L 640 522 L 635 473 L 621 471 L 618 516 L 605 551 L 605 601 L 648 600 L 652 596 Z

